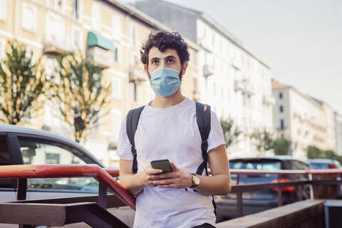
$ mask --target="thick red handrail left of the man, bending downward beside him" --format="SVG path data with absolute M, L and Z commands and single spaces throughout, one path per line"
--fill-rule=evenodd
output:
M 103 170 L 99 165 L 1 165 L 0 178 L 62 178 L 93 177 L 135 210 L 135 197 L 111 175 L 117 171 Z

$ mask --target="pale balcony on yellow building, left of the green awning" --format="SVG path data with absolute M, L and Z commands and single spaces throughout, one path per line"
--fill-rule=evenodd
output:
M 45 36 L 44 42 L 44 53 L 50 56 L 58 56 L 63 52 L 71 52 L 74 51 L 75 48 L 72 45 L 70 39 L 66 37 L 58 37 L 55 35 L 48 35 Z

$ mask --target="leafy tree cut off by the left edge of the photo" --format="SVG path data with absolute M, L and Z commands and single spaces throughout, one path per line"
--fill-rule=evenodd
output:
M 0 120 L 16 125 L 31 117 L 33 105 L 49 89 L 43 59 L 33 59 L 33 51 L 16 41 L 9 43 L 6 57 L 0 63 Z

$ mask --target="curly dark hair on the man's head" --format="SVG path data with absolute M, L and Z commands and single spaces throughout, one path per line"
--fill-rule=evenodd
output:
M 158 30 L 151 31 L 147 41 L 142 43 L 140 50 L 141 62 L 148 66 L 148 53 L 152 47 L 156 47 L 159 51 L 164 52 L 167 48 L 172 48 L 177 51 L 180 57 L 180 63 L 183 65 L 189 61 L 189 51 L 187 51 L 187 43 L 185 43 L 180 33 L 176 31 Z

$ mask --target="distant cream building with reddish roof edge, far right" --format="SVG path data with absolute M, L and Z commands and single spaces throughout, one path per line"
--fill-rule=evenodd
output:
M 333 110 L 323 102 L 300 93 L 291 86 L 272 82 L 274 131 L 291 141 L 291 155 L 306 159 L 306 148 L 335 150 Z

